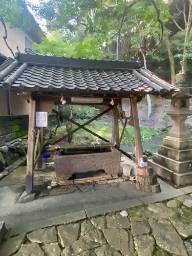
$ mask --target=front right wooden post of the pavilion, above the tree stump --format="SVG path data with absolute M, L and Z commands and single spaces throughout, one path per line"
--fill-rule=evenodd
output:
M 134 124 L 133 129 L 134 129 L 135 147 L 136 147 L 135 156 L 137 159 L 137 164 L 139 165 L 140 159 L 143 158 L 143 147 L 141 142 L 140 127 L 139 127 L 137 98 L 131 98 L 130 100 L 131 100 L 131 111 L 133 115 L 133 124 Z

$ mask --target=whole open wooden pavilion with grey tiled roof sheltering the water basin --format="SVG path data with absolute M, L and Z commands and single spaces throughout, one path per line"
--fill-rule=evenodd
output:
M 66 104 L 106 105 L 107 109 L 104 112 L 83 125 L 65 115 L 62 115 L 62 117 L 78 126 L 75 131 L 82 128 L 110 143 L 110 141 L 98 136 L 84 126 L 106 112 L 113 110 L 113 130 L 115 135 L 113 143 L 120 150 L 120 141 L 123 135 L 119 136 L 118 125 L 119 119 L 123 122 L 120 114 L 122 110 L 121 99 L 130 98 L 131 120 L 128 124 L 134 127 L 135 153 L 137 164 L 139 165 L 140 159 L 143 158 L 143 149 L 137 102 L 146 94 L 170 98 L 173 94 L 179 92 L 179 89 L 172 87 L 169 83 L 142 68 L 140 62 L 133 61 L 95 60 L 16 53 L 12 63 L 10 63 L 10 60 L 7 62 L 5 60 L 0 66 L 0 70 L 0 86 L 8 92 L 11 91 L 23 95 L 29 100 L 30 104 L 26 174 L 27 193 L 33 191 L 34 167 L 38 161 L 41 161 L 41 152 L 44 146 L 42 127 L 38 129 L 35 141 L 36 111 L 53 111 L 57 115 L 62 115 L 53 110 L 54 105 L 61 104 L 61 98 Z M 78 98 L 81 98 L 80 103 Z M 87 99 L 93 99 L 95 103 Z M 123 132 L 126 131 L 127 121 L 129 119 L 125 118 Z M 126 154 L 125 152 L 122 153 Z

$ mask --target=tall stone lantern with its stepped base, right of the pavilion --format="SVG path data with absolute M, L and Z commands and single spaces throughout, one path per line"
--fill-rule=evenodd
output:
M 186 185 L 192 184 L 192 137 L 185 124 L 187 117 L 192 115 L 189 110 L 192 88 L 181 73 L 176 75 L 176 87 L 180 92 L 173 95 L 171 108 L 167 112 L 175 123 L 149 165 L 160 177 L 176 185 Z

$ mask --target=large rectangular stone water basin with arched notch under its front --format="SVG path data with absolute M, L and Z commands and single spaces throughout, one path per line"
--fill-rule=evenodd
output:
M 56 180 L 68 180 L 73 174 L 104 170 L 119 173 L 121 153 L 113 147 L 70 148 L 54 157 Z

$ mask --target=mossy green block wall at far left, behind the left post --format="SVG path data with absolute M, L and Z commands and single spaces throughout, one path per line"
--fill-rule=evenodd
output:
M 28 135 L 29 116 L 0 116 L 0 146 Z

